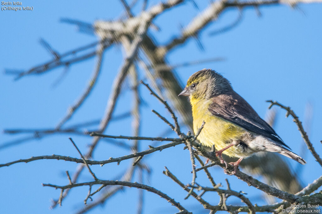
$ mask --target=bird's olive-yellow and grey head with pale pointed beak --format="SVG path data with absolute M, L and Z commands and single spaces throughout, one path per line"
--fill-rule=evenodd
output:
M 221 74 L 203 69 L 192 74 L 185 89 L 178 95 L 190 97 L 190 99 L 209 99 L 215 95 L 232 90 L 230 82 Z

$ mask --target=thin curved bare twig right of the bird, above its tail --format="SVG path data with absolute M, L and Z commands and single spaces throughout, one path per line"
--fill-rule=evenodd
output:
M 298 119 L 298 116 L 295 114 L 295 112 L 290 107 L 283 106 L 279 102 L 272 101 L 272 100 L 267 100 L 266 102 L 270 103 L 269 108 L 271 108 L 274 105 L 277 105 L 277 106 L 279 106 L 279 107 L 281 107 L 281 108 L 283 108 L 283 109 L 285 109 L 287 111 L 286 117 L 288 117 L 289 115 L 291 115 L 293 117 L 293 121 L 298 126 L 298 131 L 301 133 L 301 136 L 302 136 L 304 142 L 306 143 L 306 145 L 308 146 L 308 149 L 311 151 L 311 153 L 312 153 L 313 157 L 315 158 L 315 160 L 322 167 L 322 159 L 320 158 L 320 156 L 315 151 L 311 141 L 308 139 L 308 135 L 304 131 L 304 128 L 302 126 L 302 122 Z

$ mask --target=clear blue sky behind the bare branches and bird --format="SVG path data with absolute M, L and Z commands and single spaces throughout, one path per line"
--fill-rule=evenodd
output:
M 150 1 L 154 5 L 157 1 Z M 206 7 L 208 1 L 197 1 L 200 9 Z M 63 53 L 81 45 L 94 42 L 94 35 L 77 31 L 75 26 L 61 23 L 61 18 L 71 18 L 93 23 L 95 20 L 113 20 L 123 13 L 123 7 L 118 1 L 28 1 L 23 6 L 33 6 L 33 11 L 2 11 L 1 24 L 1 67 L 5 69 L 29 69 L 34 65 L 50 60 L 52 56 L 39 44 L 43 38 L 52 47 Z M 138 11 L 139 7 L 135 8 Z M 304 118 L 305 106 L 311 103 L 313 120 L 310 124 L 310 140 L 317 152 L 322 154 L 322 4 L 300 4 L 298 8 L 288 5 L 260 7 L 261 17 L 254 8 L 242 11 L 241 23 L 215 36 L 209 33 L 232 23 L 238 17 L 238 10 L 229 9 L 217 21 L 206 27 L 200 35 L 205 47 L 199 49 L 196 41 L 189 40 L 183 47 L 176 48 L 167 56 L 170 64 L 202 60 L 212 57 L 224 57 L 223 62 L 182 67 L 176 70 L 184 84 L 188 77 L 203 68 L 212 68 L 231 81 L 236 92 L 244 97 L 261 117 L 265 116 L 269 106 L 265 100 L 273 99 L 292 107 L 301 120 Z M 168 11 L 156 18 L 154 23 L 161 31 L 150 30 L 158 44 L 165 44 L 174 35 L 179 35 L 180 26 L 186 26 L 199 11 L 191 3 L 186 3 Z M 102 72 L 99 81 L 87 99 L 86 103 L 67 124 L 77 124 L 82 121 L 98 119 L 104 114 L 112 80 L 122 63 L 122 47 L 114 46 L 105 52 Z M 26 76 L 14 81 L 13 76 L 1 73 L 2 85 L 0 99 L 0 128 L 52 128 L 64 116 L 67 108 L 83 92 L 93 71 L 94 59 L 90 59 L 70 67 L 65 78 L 55 87 L 52 84 L 63 72 L 63 68 L 54 69 L 41 76 Z M 144 73 L 140 73 L 144 79 Z M 127 81 L 129 82 L 129 81 Z M 164 107 L 151 97 L 147 90 L 141 87 L 142 98 L 147 102 L 142 107 L 143 136 L 159 136 L 168 130 L 166 124 L 151 113 L 156 109 L 170 118 Z M 128 86 L 123 87 L 121 97 L 114 115 L 130 110 L 128 103 L 132 102 L 132 93 Z M 302 169 L 303 184 L 311 183 L 321 175 L 321 168 L 314 158 L 303 151 L 302 141 L 296 125 L 291 118 L 285 118 L 285 112 L 277 109 L 277 123 L 274 129 L 287 145 L 298 154 L 305 153 L 308 162 Z M 171 119 L 171 118 L 170 118 Z M 183 128 L 186 132 L 186 128 Z M 106 130 L 107 134 L 131 135 L 131 118 L 113 122 Z M 0 134 L 0 146 L 6 142 L 27 137 L 29 135 Z M 169 136 L 175 136 L 169 134 Z M 72 137 L 81 151 L 85 153 L 91 142 L 90 137 L 75 135 L 50 135 L 39 140 L 32 140 L 20 145 L 0 150 L 0 163 L 14 161 L 31 156 L 60 154 L 79 157 L 68 137 Z M 127 142 L 128 143 L 128 142 Z M 147 149 L 150 142 L 141 142 L 141 149 Z M 94 159 L 103 160 L 128 154 L 127 150 L 119 149 L 112 144 L 101 142 L 96 149 Z M 156 153 L 143 159 L 152 168 L 152 174 L 146 182 L 180 201 L 188 210 L 200 212 L 202 206 L 191 197 L 184 200 L 186 193 L 162 174 L 164 166 L 176 173 L 183 183 L 191 182 L 191 164 L 189 154 L 176 146 L 161 153 Z M 292 167 L 298 163 L 286 160 Z M 122 172 L 131 161 L 121 162 L 120 166 L 109 164 L 104 167 L 91 167 L 101 179 L 113 179 Z M 20 163 L 1 168 L 2 183 L 1 213 L 70 213 L 83 206 L 87 187 L 75 188 L 71 191 L 61 208 L 49 210 L 50 199 L 59 196 L 59 190 L 42 187 L 41 183 L 68 184 L 65 170 L 75 171 L 75 163 L 41 160 L 28 164 Z M 226 175 L 222 169 L 213 167 L 211 172 L 217 183 L 224 183 Z M 261 193 L 248 187 L 235 177 L 228 177 L 232 189 L 244 190 L 255 200 Z M 137 175 L 135 176 L 137 179 Z M 210 185 L 200 172 L 197 182 Z M 90 174 L 84 171 L 80 181 L 92 180 Z M 135 181 L 135 180 L 134 180 Z M 135 212 L 137 203 L 136 189 L 130 188 L 118 193 L 105 206 L 99 206 L 90 213 L 123 213 L 128 210 Z M 97 198 L 98 196 L 96 196 Z M 211 194 L 205 197 L 211 197 Z M 94 196 L 95 199 L 95 196 Z M 208 198 L 209 199 L 209 198 Z M 236 199 L 230 199 L 237 202 Z M 213 203 L 217 203 L 215 200 Z M 262 200 L 254 203 L 263 204 Z M 174 213 L 176 209 L 164 199 L 152 193 L 145 193 L 144 213 Z

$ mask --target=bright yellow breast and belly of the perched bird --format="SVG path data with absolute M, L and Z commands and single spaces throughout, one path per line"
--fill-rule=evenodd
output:
M 204 128 L 198 136 L 201 144 L 207 147 L 215 145 L 216 150 L 221 150 L 228 146 L 232 140 L 239 140 L 246 132 L 243 128 L 228 122 L 227 120 L 214 116 L 208 107 L 210 100 L 190 100 L 192 105 L 192 114 L 194 119 L 194 133 L 197 133 L 202 122 L 205 122 Z M 232 157 L 244 157 L 235 146 L 225 150 L 224 154 Z

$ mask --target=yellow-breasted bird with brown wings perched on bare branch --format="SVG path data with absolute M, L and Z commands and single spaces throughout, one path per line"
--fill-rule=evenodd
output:
M 300 164 L 306 163 L 290 151 L 273 128 L 233 90 L 230 81 L 220 73 L 203 69 L 192 74 L 178 96 L 190 99 L 194 133 L 204 122 L 197 140 L 206 148 L 214 145 L 216 156 L 226 164 L 226 168 L 222 154 L 239 158 L 230 163 L 234 167 L 231 174 L 236 173 L 243 158 L 259 151 L 277 152 Z

